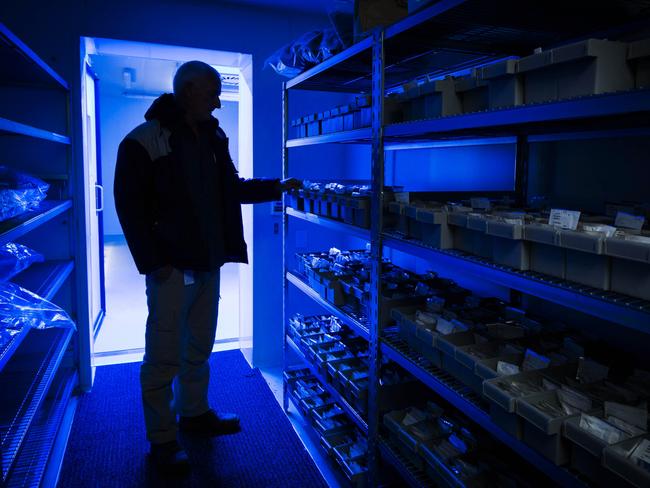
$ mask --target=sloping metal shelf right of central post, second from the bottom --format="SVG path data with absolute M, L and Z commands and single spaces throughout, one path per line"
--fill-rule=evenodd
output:
M 381 351 L 388 359 L 409 371 L 436 394 L 463 412 L 467 418 L 480 425 L 560 486 L 584 486 L 571 473 L 551 463 L 537 451 L 494 424 L 489 414 L 480 406 L 480 400 L 476 394 L 470 393 L 469 388 L 420 358 L 396 335 L 387 334 L 385 338 L 382 338 Z

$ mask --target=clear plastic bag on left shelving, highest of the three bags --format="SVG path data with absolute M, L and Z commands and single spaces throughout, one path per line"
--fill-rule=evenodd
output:
M 38 207 L 49 188 L 35 176 L 0 166 L 0 221 Z

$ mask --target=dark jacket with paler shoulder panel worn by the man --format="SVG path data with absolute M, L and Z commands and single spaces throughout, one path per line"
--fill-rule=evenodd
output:
M 248 262 L 241 204 L 280 199 L 279 180 L 239 178 L 219 122 L 203 123 L 197 138 L 173 95 L 155 100 L 145 119 L 120 144 L 114 185 L 138 271 Z

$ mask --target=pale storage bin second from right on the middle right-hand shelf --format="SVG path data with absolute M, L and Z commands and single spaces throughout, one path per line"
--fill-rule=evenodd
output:
M 566 249 L 566 279 L 609 290 L 610 258 L 604 254 L 604 235 L 560 230 L 558 243 Z

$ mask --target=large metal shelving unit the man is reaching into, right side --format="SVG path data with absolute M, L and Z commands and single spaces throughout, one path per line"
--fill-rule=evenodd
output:
M 581 22 L 576 23 L 575 19 Z M 520 272 L 494 265 L 460 252 L 440 251 L 414 241 L 385 233 L 383 219 L 385 150 L 423 147 L 449 147 L 504 143 L 517 146 L 517 191 L 521 191 L 521 153 L 531 142 L 589 139 L 608 136 L 647 135 L 650 114 L 650 90 L 595 95 L 553 103 L 470 113 L 391 125 L 383 124 L 384 96 L 398 85 L 421 77 L 440 77 L 486 64 L 508 56 L 532 53 L 543 46 L 555 47 L 588 37 L 616 39 L 638 30 L 650 19 L 650 1 L 615 0 L 593 2 L 499 3 L 485 0 L 440 0 L 409 16 L 326 62 L 285 83 L 283 89 L 283 177 L 289 171 L 290 149 L 320 144 L 363 143 L 371 145 L 371 229 L 365 230 L 341 222 L 286 208 L 285 243 L 292 219 L 307 221 L 320 228 L 349 233 L 371 242 L 373 269 L 371 302 L 367 324 L 363 327 L 369 341 L 370 380 L 368 440 L 369 480 L 378 484 L 378 457 L 394 465 L 411 486 L 421 486 L 420 475 L 379 435 L 378 372 L 381 357 L 386 357 L 413 374 L 437 395 L 462 411 L 495 439 L 508 446 L 522 460 L 544 472 L 562 486 L 583 486 L 570 471 L 557 467 L 539 453 L 511 437 L 490 419 L 482 401 L 465 385 L 413 353 L 393 335 L 380 335 L 381 263 L 385 248 L 396 249 L 431 262 L 453 265 L 458 273 L 472 275 L 512 290 L 533 295 L 571 309 L 598 316 L 635 331 L 650 333 L 648 302 L 613 293 L 577 286 L 569 282 L 531 272 Z M 319 90 L 372 95 L 372 126 L 323 136 L 288 139 L 288 108 L 291 90 Z M 285 245 L 286 249 L 286 245 Z M 294 285 L 344 322 L 350 317 L 323 300 L 300 279 L 287 272 L 285 265 L 283 304 L 285 323 L 289 285 Z M 347 322 L 346 322 L 347 323 Z M 350 324 L 348 324 L 350 325 Z M 286 331 L 285 331 L 286 332 Z M 360 334 L 361 335 L 361 334 Z M 286 346 L 285 333 L 285 350 Z M 291 349 L 291 345 L 288 346 Z

